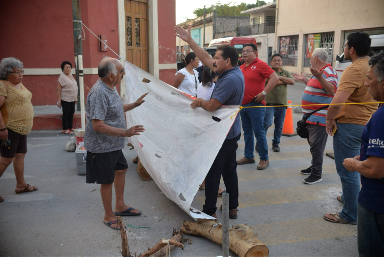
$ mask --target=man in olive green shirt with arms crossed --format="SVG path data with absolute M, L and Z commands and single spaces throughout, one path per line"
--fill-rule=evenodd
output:
M 272 55 L 271 68 L 279 76 L 279 81 L 271 92 L 265 97 L 266 106 L 268 105 L 287 105 L 287 85 L 293 85 L 295 79 L 292 77 L 288 70 L 283 70 L 283 58 L 280 53 Z M 265 82 L 267 83 L 268 80 Z M 283 131 L 283 123 L 285 118 L 286 107 L 266 107 L 264 115 L 264 129 L 265 134 L 273 122 L 275 116 L 275 132 L 273 133 L 272 150 L 280 152 L 280 137 Z

